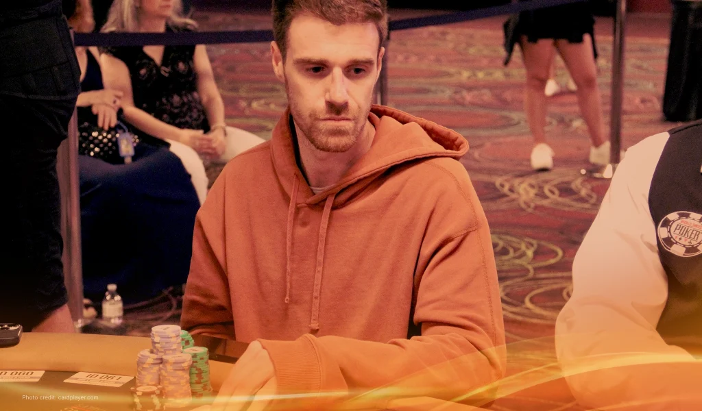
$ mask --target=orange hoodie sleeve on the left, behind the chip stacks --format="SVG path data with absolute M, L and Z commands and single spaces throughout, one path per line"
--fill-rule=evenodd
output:
M 222 176 L 227 175 L 227 167 Z M 225 182 L 218 178 L 195 217 L 190 274 L 180 325 L 192 335 L 234 339 L 234 319 L 225 271 Z

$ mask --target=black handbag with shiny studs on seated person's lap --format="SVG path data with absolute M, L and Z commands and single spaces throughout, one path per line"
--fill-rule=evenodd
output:
M 78 126 L 78 153 L 111 164 L 124 164 L 124 159 L 119 155 L 118 142 L 119 136 L 124 133 L 131 135 L 132 145 L 136 147 L 138 135 L 131 133 L 121 121 L 108 130 L 85 121 Z

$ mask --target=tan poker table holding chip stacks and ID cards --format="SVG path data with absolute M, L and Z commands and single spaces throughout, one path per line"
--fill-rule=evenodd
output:
M 210 381 L 216 394 L 248 344 L 199 335 L 193 337 L 195 345 L 205 346 L 210 353 Z M 139 351 L 151 346 L 151 339 L 147 337 L 26 332 L 18 345 L 0 348 L 0 411 L 133 411 L 131 389 L 135 386 L 136 358 Z M 17 377 L 18 381 L 4 381 L 3 378 L 7 377 L 3 375 L 4 371 L 14 371 L 12 377 Z M 95 378 L 105 379 L 107 384 L 114 386 L 66 382 L 79 372 L 88 373 L 84 377 L 92 376 L 92 382 Z M 36 381 L 22 381 L 32 377 Z M 212 400 L 212 396 L 194 398 L 191 405 L 178 410 L 194 410 Z M 479 410 L 426 397 L 382 403 L 382 407 L 362 409 Z M 357 407 L 350 409 L 359 410 Z

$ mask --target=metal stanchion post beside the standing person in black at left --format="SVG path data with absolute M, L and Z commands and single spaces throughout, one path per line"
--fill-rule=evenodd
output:
M 81 264 L 81 209 L 78 187 L 78 116 L 73 112 L 68 138 L 58 147 L 56 172 L 61 193 L 61 236 L 63 238 L 63 275 L 68 291 L 68 306 L 77 329 L 86 325 L 83 318 L 83 269 Z

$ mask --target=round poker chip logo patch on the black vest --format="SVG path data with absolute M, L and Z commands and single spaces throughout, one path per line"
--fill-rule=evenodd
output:
M 663 248 L 680 257 L 702 254 L 702 215 L 677 211 L 658 224 L 658 239 Z

